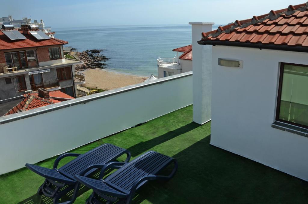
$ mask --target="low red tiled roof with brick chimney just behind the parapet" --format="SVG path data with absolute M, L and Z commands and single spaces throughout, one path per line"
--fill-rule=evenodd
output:
M 6 112 L 5 115 L 18 113 L 18 112 L 25 111 L 25 110 L 31 110 L 31 109 L 42 107 L 42 106 L 48 106 L 50 104 L 59 103 L 63 101 L 63 100 L 59 101 L 59 100 L 53 99 L 52 97 L 73 99 L 73 97 L 61 92 L 60 90 L 50 91 L 49 92 L 50 98 L 48 99 L 41 98 L 38 95 L 39 95 L 38 93 L 24 94 L 23 100 L 19 102 L 16 106 L 14 106 L 12 109 L 10 109 L 8 112 Z

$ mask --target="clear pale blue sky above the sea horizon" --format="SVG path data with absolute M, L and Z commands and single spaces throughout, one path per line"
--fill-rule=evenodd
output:
M 304 0 L 10 0 L 1 2 L 3 17 L 12 15 L 43 19 L 46 26 L 116 26 L 188 24 L 215 22 L 227 24 L 252 18 L 270 10 L 287 8 Z M 1 17 L 2 17 L 1 16 Z

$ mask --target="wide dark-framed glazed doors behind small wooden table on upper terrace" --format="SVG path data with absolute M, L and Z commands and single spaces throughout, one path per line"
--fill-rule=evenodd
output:
M 25 68 L 28 67 L 28 60 L 26 57 L 26 51 L 5 53 L 6 65 L 8 67 Z

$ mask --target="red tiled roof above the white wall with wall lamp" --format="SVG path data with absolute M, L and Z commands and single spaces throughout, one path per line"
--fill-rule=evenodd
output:
M 202 41 L 229 41 L 241 43 L 274 44 L 308 47 L 308 3 L 269 14 L 220 26 L 202 33 Z

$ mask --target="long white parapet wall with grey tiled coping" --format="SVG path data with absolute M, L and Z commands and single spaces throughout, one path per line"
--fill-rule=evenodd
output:
M 192 90 L 187 72 L 2 116 L 0 174 L 191 105 Z

